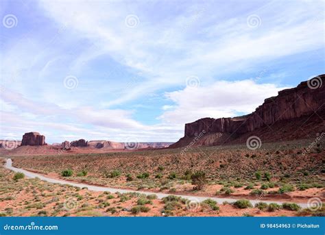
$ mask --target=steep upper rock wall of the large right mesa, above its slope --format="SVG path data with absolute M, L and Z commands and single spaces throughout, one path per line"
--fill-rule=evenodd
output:
M 324 109 L 325 75 L 320 75 L 307 82 L 301 82 L 296 88 L 281 90 L 276 97 L 265 99 L 252 114 L 234 118 L 204 118 L 187 123 L 184 138 L 193 138 L 203 131 L 206 134 L 229 133 L 236 137 Z

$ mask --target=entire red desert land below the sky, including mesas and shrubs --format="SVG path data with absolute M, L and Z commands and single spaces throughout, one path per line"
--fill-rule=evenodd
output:
M 324 84 L 319 75 L 252 114 L 187 123 L 177 143 L 1 140 L 0 214 L 324 216 Z

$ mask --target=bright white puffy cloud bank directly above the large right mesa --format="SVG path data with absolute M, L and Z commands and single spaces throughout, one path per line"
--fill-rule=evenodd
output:
M 264 99 L 278 95 L 274 84 L 256 84 L 252 80 L 219 81 L 211 86 L 167 92 L 176 108 L 166 111 L 160 119 L 167 123 L 189 123 L 203 117 L 233 117 L 248 114 L 260 106 Z

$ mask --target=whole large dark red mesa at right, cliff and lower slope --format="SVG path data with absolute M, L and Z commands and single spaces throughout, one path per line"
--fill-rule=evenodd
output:
M 264 136 L 265 141 L 310 138 L 325 131 L 325 75 L 301 82 L 296 88 L 281 90 L 265 99 L 252 114 L 234 118 L 204 118 L 185 125 L 184 137 L 171 147 L 240 143 L 244 137 Z M 296 127 L 292 124 L 296 123 Z M 304 128 L 296 134 L 297 128 Z M 263 130 L 263 132 L 261 132 Z M 285 131 L 286 134 L 280 132 Z M 279 132 L 280 131 L 280 132 Z M 276 136 L 278 134 L 278 136 Z

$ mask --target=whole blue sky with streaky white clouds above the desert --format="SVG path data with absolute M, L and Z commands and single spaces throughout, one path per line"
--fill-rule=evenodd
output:
M 175 142 L 324 73 L 325 1 L 0 4 L 0 139 Z

